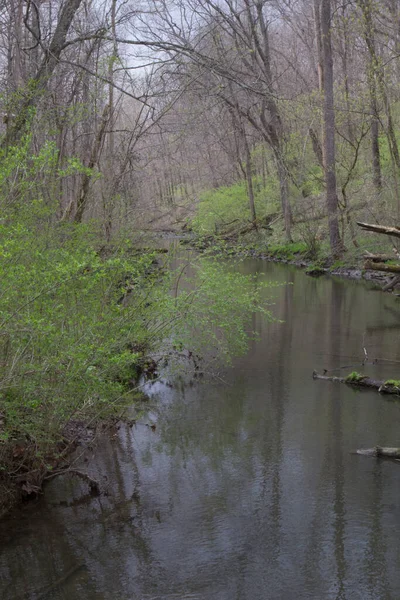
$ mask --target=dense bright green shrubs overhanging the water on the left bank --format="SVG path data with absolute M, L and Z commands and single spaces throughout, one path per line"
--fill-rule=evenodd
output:
M 221 261 L 188 256 L 171 269 L 132 234 L 107 244 L 97 223 L 60 219 L 57 182 L 83 167 L 59 170 L 53 146 L 32 155 L 27 138 L 2 160 L 0 509 L 59 467 L 68 424 L 132 404 L 149 364 L 154 375 L 205 347 L 229 360 L 251 314 L 269 316 L 264 286 Z

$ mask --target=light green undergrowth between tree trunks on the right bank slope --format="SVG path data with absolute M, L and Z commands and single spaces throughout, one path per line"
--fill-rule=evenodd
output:
M 213 240 L 231 254 L 247 252 L 279 260 L 306 260 L 333 270 L 361 266 L 366 250 L 393 253 L 393 240 L 366 234 L 356 225 L 357 221 L 394 225 L 400 211 L 398 176 L 387 137 L 382 134 L 379 138 L 382 186 L 378 190 L 373 182 L 364 121 L 357 127 L 356 147 L 340 136 L 337 139 L 338 222 L 345 249 L 340 259 L 331 258 L 322 169 L 316 163 L 310 137 L 295 133 L 288 135 L 285 149 L 291 240 L 285 235 L 277 174 L 274 168 L 266 170 L 265 166 L 273 165 L 273 156 L 262 144 L 256 144 L 251 152 L 257 228 L 251 228 L 248 186 L 240 179 L 203 191 L 196 214 L 188 219 L 186 228 L 193 232 L 200 247 L 210 246 Z

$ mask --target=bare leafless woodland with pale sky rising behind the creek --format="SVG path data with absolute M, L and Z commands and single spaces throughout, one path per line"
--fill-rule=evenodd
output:
M 339 255 L 400 217 L 398 0 L 3 0 L 0 45 L 3 154 L 29 134 L 82 165 L 60 220 L 111 239 L 242 182 L 250 223 L 264 195 Z

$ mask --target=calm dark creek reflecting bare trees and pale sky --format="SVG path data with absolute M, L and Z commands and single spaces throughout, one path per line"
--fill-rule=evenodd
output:
M 4 520 L 2 600 L 400 598 L 400 463 L 353 454 L 400 446 L 400 403 L 312 379 L 400 379 L 400 305 L 238 268 L 285 284 L 266 292 L 282 322 L 254 317 L 260 339 L 219 378 L 152 385 L 142 420 L 82 462 L 106 494 L 82 501 L 85 482 L 55 478 Z

